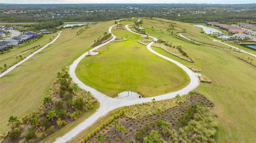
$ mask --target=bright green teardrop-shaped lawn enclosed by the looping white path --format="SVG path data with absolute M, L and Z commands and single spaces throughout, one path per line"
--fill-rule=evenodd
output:
M 76 69 L 82 82 L 110 97 L 130 89 L 145 97 L 166 94 L 185 87 L 186 72 L 146 49 L 137 41 L 145 39 L 128 30 L 112 30 L 127 41 L 109 43 L 98 55 L 85 57 Z

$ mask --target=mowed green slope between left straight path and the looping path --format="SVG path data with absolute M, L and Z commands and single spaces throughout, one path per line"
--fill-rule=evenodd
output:
M 108 31 L 114 21 L 90 25 L 79 35 L 74 30 L 63 29 L 60 37 L 51 45 L 0 78 L 0 133 L 5 133 L 10 116 L 21 119 L 42 104 L 57 72 L 71 65 L 88 51 L 100 35 Z M 46 39 L 47 40 L 47 39 Z

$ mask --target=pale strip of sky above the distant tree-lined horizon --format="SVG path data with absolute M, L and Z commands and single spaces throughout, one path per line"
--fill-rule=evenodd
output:
M 5 4 L 256 4 L 256 0 L 0 0 Z

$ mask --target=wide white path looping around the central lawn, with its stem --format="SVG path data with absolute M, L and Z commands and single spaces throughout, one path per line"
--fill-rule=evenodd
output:
M 114 25 L 113 25 L 114 26 Z M 111 26 L 108 30 L 109 33 L 111 33 Z M 130 32 L 133 32 L 132 30 L 130 30 L 128 28 L 128 25 L 125 26 L 126 29 L 128 29 Z M 138 34 L 138 33 L 136 33 Z M 142 34 L 140 34 L 142 35 Z M 113 41 L 116 36 L 112 35 L 113 38 L 110 41 Z M 156 39 L 155 37 L 152 37 L 155 41 L 157 41 L 158 39 Z M 97 47 L 94 47 L 91 51 L 93 51 L 94 49 L 98 49 L 99 47 L 108 44 L 110 41 L 99 45 Z M 176 92 L 171 92 L 168 94 L 163 94 L 160 96 L 155 96 L 155 97 L 151 97 L 151 98 L 110 98 L 106 95 L 104 95 L 103 93 L 97 91 L 94 88 L 91 88 L 90 86 L 86 86 L 84 83 L 82 83 L 75 74 L 75 69 L 78 65 L 78 63 L 88 54 L 88 52 L 84 53 L 81 57 L 79 57 L 76 61 L 74 61 L 74 63 L 72 63 L 72 65 L 70 65 L 70 70 L 69 70 L 69 74 L 72 77 L 73 82 L 77 83 L 78 86 L 80 86 L 80 88 L 83 88 L 84 90 L 90 91 L 92 93 L 92 95 L 98 100 L 98 102 L 100 102 L 100 108 L 98 108 L 98 110 L 89 118 L 87 118 L 86 120 L 84 120 L 82 123 L 80 123 L 79 125 L 77 125 L 76 127 L 74 127 L 71 131 L 69 131 L 68 133 L 66 133 L 64 136 L 57 138 L 56 141 L 54 143 L 65 143 L 69 140 L 71 140 L 73 137 L 75 137 L 78 133 L 80 133 L 82 130 L 86 129 L 87 127 L 89 127 L 90 125 L 92 125 L 98 118 L 100 118 L 101 116 L 104 116 L 105 114 L 107 114 L 108 112 L 110 112 L 111 110 L 114 110 L 116 108 L 122 107 L 122 106 L 129 106 L 129 105 L 134 105 L 134 104 L 141 104 L 143 102 L 151 102 L 151 100 L 153 98 L 155 98 L 155 100 L 164 100 L 164 99 L 170 99 L 170 98 L 174 98 L 177 94 L 180 95 L 184 95 L 187 94 L 189 91 L 193 90 L 194 88 L 196 88 L 199 85 L 199 79 L 197 78 L 198 74 L 192 72 L 190 69 L 188 69 L 186 66 L 182 65 L 181 63 L 178 63 L 177 61 L 174 61 L 168 57 L 165 57 L 159 53 L 156 53 L 155 51 L 153 51 L 150 46 L 153 44 L 153 42 L 149 43 L 147 45 L 147 49 L 168 60 L 171 61 L 173 63 L 175 63 L 176 65 L 178 65 L 179 67 L 181 67 L 190 77 L 190 83 L 182 88 L 181 90 L 178 90 Z

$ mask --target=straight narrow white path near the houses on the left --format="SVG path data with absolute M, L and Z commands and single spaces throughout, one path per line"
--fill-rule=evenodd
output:
M 26 57 L 25 59 L 23 59 L 23 60 L 20 61 L 19 63 L 16 63 L 15 65 L 13 65 L 12 67 L 10 67 L 10 68 L 7 69 L 6 71 L 2 72 L 2 73 L 0 74 L 0 77 L 4 76 L 4 75 L 7 74 L 8 72 L 12 71 L 12 70 L 13 70 L 15 67 L 17 67 L 18 65 L 20 65 L 20 64 L 24 63 L 25 61 L 27 61 L 29 58 L 31 58 L 32 56 L 34 56 L 36 53 L 42 51 L 42 50 L 43 50 L 45 47 L 47 47 L 48 45 L 54 43 L 54 42 L 56 41 L 56 39 L 58 39 L 58 37 L 60 37 L 60 33 L 61 33 L 61 32 L 62 32 L 62 31 L 59 31 L 58 36 L 56 36 L 55 39 L 53 39 L 50 43 L 44 45 L 44 47 L 42 47 L 41 49 L 35 51 L 34 53 L 32 53 L 31 55 L 29 55 L 28 57 Z

